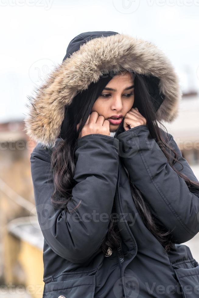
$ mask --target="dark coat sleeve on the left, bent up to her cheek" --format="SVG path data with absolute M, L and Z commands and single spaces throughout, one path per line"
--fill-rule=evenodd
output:
M 119 165 L 119 140 L 89 134 L 75 148 L 76 182 L 68 210 L 51 204 L 54 191 L 50 149 L 39 143 L 30 157 L 34 199 L 44 239 L 62 258 L 86 262 L 101 246 L 110 222 Z

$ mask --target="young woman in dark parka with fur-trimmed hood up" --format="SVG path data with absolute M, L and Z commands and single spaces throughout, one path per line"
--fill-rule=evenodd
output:
M 173 136 L 178 78 L 154 44 L 86 32 L 30 97 L 43 297 L 198 297 L 199 182 Z

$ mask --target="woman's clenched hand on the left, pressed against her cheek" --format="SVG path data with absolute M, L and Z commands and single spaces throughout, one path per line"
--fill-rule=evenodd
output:
M 79 127 L 79 123 L 77 124 L 77 129 Z M 92 112 L 84 127 L 82 128 L 78 139 L 80 139 L 83 136 L 86 136 L 91 133 L 100 133 L 104 134 L 106 136 L 110 136 L 110 122 L 109 120 L 105 120 L 104 116 L 99 116 L 99 114 L 94 111 Z

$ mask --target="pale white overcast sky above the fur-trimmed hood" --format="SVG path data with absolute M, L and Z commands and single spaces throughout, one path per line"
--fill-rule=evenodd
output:
M 27 95 L 86 31 L 116 31 L 155 43 L 184 91 L 199 89 L 199 0 L 0 0 L 0 122 L 26 113 Z M 186 71 L 191 73 L 187 81 Z

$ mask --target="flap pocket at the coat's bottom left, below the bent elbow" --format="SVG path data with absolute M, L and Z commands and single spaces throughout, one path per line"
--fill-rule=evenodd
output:
M 93 298 L 96 287 L 96 275 L 87 275 L 64 281 L 45 284 L 43 298 Z

